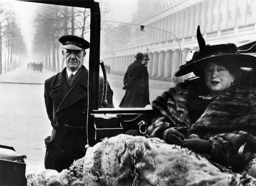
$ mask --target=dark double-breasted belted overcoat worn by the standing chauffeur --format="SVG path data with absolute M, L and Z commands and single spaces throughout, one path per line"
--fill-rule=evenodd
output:
M 46 109 L 53 126 L 51 137 L 45 139 L 46 169 L 61 171 L 86 154 L 88 70 L 81 66 L 72 80 L 71 87 L 65 68 L 45 82 Z

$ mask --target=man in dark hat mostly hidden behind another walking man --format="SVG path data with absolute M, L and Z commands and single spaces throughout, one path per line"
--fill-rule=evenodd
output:
M 147 63 L 150 59 L 148 58 L 148 54 L 144 54 L 144 59 L 142 61 L 142 64 L 144 65 L 144 86 L 145 86 L 145 90 L 144 90 L 144 101 L 143 104 L 147 105 L 150 104 L 150 88 L 148 86 L 148 71 L 147 71 Z

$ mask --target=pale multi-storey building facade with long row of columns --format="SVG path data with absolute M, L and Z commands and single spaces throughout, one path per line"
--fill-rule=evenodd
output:
M 199 50 L 197 26 L 206 44 L 240 44 L 256 38 L 255 0 L 139 0 L 131 39 L 101 55 L 114 74 L 123 75 L 137 52 L 147 53 L 150 78 L 171 81 L 189 50 Z M 144 25 L 144 28 L 141 26 Z M 147 32 L 144 34 L 141 30 Z

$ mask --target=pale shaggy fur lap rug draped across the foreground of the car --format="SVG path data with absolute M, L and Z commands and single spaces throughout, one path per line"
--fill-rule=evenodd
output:
M 256 179 L 222 173 L 200 155 L 158 138 L 118 135 L 88 148 L 70 169 L 27 174 L 27 185 L 256 185 Z

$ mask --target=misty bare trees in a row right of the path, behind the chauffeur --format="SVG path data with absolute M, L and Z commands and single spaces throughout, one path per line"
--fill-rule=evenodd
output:
M 100 2 L 101 5 L 103 5 Z M 101 15 L 109 12 L 107 5 Z M 60 71 L 65 66 L 60 57 L 58 39 L 63 35 L 87 38 L 90 35 L 90 10 L 77 7 L 40 5 L 35 15 L 35 35 L 33 54 L 52 71 Z M 90 38 L 90 37 L 88 37 Z

